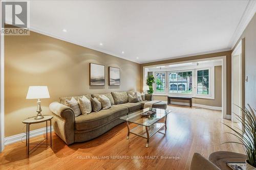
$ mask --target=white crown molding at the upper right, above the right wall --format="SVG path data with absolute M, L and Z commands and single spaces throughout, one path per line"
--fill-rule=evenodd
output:
M 233 49 L 234 45 L 236 45 L 237 41 L 243 34 L 244 30 L 246 29 L 248 23 L 252 19 L 256 12 L 256 1 L 250 0 L 245 8 L 245 11 L 238 23 L 238 26 L 236 28 L 236 31 L 234 31 L 234 34 L 229 42 L 229 46 L 231 49 Z

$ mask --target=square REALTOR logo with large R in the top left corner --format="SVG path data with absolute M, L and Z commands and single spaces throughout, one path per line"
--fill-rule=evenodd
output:
M 29 2 L 1 1 L 1 34 L 29 35 Z

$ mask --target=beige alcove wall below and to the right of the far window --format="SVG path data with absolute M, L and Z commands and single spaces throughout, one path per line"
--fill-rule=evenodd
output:
M 193 98 L 192 102 L 194 104 L 207 105 L 207 106 L 222 106 L 222 66 L 215 66 L 215 99 L 201 99 Z M 154 100 L 167 101 L 167 96 L 154 96 Z M 172 100 L 173 102 L 189 103 L 189 101 L 184 100 Z

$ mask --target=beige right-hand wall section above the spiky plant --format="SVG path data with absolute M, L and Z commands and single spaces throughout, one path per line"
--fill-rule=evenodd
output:
M 242 43 L 242 55 L 245 60 L 245 76 L 248 76 L 248 82 L 245 82 L 245 106 L 250 104 L 256 108 L 256 14 L 249 22 L 238 42 L 244 38 Z M 237 43 L 238 43 L 237 42 Z M 244 81 L 244 79 L 242 80 Z

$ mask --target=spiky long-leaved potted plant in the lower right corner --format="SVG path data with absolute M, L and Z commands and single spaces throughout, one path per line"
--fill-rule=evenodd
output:
M 239 106 L 238 106 L 239 107 Z M 240 129 L 234 129 L 231 128 L 230 126 L 226 125 L 228 128 L 230 128 L 233 133 L 231 132 L 226 132 L 229 134 L 232 134 L 236 136 L 239 140 L 239 142 L 225 142 L 225 143 L 238 143 L 242 144 L 244 151 L 247 155 L 247 160 L 245 162 L 246 164 L 246 170 L 255 170 L 256 169 L 256 110 L 250 107 L 248 104 L 249 110 L 245 107 L 245 109 L 242 109 L 239 107 L 245 117 L 243 118 L 240 115 L 237 115 L 237 119 L 239 122 L 241 122 L 242 127 L 244 128 L 244 131 Z

